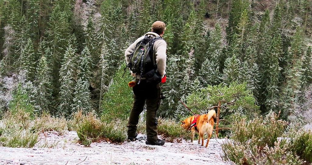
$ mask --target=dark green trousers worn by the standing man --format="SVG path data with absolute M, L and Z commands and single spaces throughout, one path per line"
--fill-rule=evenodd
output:
M 136 81 L 138 82 L 138 81 Z M 146 104 L 146 133 L 147 140 L 157 140 L 156 111 L 160 105 L 159 84 L 147 83 L 141 80 L 140 84 L 133 87 L 134 102 L 130 111 L 128 122 L 128 136 L 134 136 L 137 131 L 139 115 Z

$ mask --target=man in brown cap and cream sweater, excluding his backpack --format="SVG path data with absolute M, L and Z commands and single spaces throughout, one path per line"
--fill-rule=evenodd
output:
M 166 25 L 164 22 L 154 22 L 151 32 L 148 32 L 144 36 L 135 40 L 135 42 L 132 43 L 125 51 L 127 64 L 130 62 L 130 54 L 134 51 L 135 46 L 139 41 L 144 39 L 146 36 L 148 38 L 162 37 L 165 30 Z M 154 57 L 156 58 L 157 70 L 161 78 L 163 78 L 166 74 L 166 49 L 167 43 L 163 39 L 155 40 L 153 51 Z M 164 140 L 158 139 L 157 137 L 156 111 L 159 108 L 161 97 L 159 84 L 146 82 L 138 73 L 134 74 L 131 72 L 131 74 L 136 78 L 137 84 L 133 87 L 134 103 L 130 111 L 129 122 L 127 125 L 128 139 L 133 141 L 138 135 L 136 130 L 139 122 L 139 115 L 143 111 L 144 105 L 146 104 L 147 140 L 145 143 L 150 145 L 163 145 L 165 143 Z M 140 83 L 138 84 L 139 81 Z

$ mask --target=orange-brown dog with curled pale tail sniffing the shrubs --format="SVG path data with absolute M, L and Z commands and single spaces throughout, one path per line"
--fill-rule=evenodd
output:
M 199 134 L 198 144 L 200 143 L 200 139 L 202 139 L 202 146 L 204 146 L 204 133 L 207 133 L 208 138 L 207 138 L 207 143 L 205 146 L 205 147 L 207 147 L 208 143 L 209 143 L 209 139 L 210 139 L 211 134 L 212 134 L 214 120 L 217 119 L 216 111 L 210 110 L 208 112 L 208 114 L 198 116 L 197 121 L 196 121 L 197 130 L 195 129 L 195 127 L 191 128 L 191 123 L 194 120 L 194 118 L 195 118 L 195 115 L 190 116 L 183 121 L 181 120 L 181 122 L 182 122 L 181 126 L 186 130 L 191 129 L 191 131 L 192 131 L 191 142 L 193 142 L 193 140 L 194 140 L 195 132 L 197 134 Z

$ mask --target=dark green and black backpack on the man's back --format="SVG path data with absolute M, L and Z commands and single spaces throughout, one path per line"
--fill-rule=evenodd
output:
M 134 51 L 130 54 L 130 62 L 127 65 L 132 73 L 140 75 L 141 78 L 145 78 L 152 81 L 151 78 L 154 77 L 157 64 L 156 57 L 154 57 L 154 42 L 157 40 L 163 40 L 162 37 L 149 38 L 147 35 L 144 39 L 140 40 L 137 45 L 135 45 Z

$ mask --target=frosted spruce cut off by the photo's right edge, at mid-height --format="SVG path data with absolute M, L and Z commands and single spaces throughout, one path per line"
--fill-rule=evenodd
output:
M 312 83 L 311 46 L 308 47 L 302 64 L 301 87 L 308 87 Z

